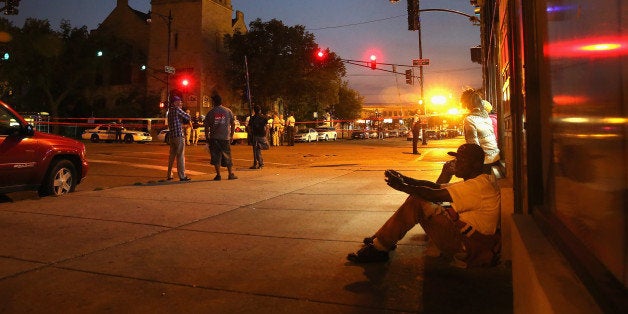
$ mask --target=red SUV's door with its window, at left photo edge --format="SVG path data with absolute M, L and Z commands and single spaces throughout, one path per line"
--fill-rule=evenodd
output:
M 20 124 L 0 107 L 0 188 L 32 184 L 37 140 L 20 134 Z

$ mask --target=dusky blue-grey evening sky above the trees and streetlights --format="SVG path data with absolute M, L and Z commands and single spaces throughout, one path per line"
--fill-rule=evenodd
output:
M 421 0 L 421 9 L 451 9 L 473 14 L 466 0 Z M 419 57 L 418 32 L 407 30 L 406 1 L 389 0 L 232 0 L 234 10 L 244 12 L 248 25 L 256 18 L 278 19 L 285 25 L 304 25 L 317 43 L 343 59 L 367 61 L 371 54 L 382 63 L 411 65 Z M 116 0 L 22 0 L 18 16 L 8 17 L 21 26 L 26 17 L 48 19 L 53 27 L 61 19 L 72 26 L 93 29 L 111 13 Z M 129 0 L 132 8 L 148 12 L 150 0 Z M 176 18 L 176 16 L 175 16 Z M 461 15 L 423 12 L 425 98 L 442 94 L 458 99 L 465 87 L 481 87 L 481 66 L 472 63 L 469 48 L 480 44 L 479 26 Z M 347 64 L 350 87 L 366 103 L 416 102 L 419 84 L 405 83 L 405 76 Z M 392 66 L 381 66 L 392 70 Z M 403 72 L 406 68 L 399 67 Z M 416 70 L 418 75 L 418 69 Z

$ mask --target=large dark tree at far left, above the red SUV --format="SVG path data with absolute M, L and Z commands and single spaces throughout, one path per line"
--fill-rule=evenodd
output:
M 47 20 L 27 19 L 21 29 L 12 31 L 9 46 L 14 58 L 6 65 L 14 97 L 18 103 L 31 104 L 24 109 L 59 116 L 61 103 L 79 94 L 93 75 L 87 28 L 72 28 L 63 21 L 57 32 Z

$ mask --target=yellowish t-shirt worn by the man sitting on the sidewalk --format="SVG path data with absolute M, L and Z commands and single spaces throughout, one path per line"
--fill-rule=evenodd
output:
M 501 196 L 490 175 L 481 174 L 473 179 L 449 184 L 445 188 L 451 195 L 451 206 L 460 215 L 460 220 L 482 234 L 495 233 L 499 222 Z

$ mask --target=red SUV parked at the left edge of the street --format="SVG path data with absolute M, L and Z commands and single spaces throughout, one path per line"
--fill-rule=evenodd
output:
M 73 192 L 87 175 L 85 145 L 35 131 L 0 101 L 0 194 L 35 190 L 39 195 Z

